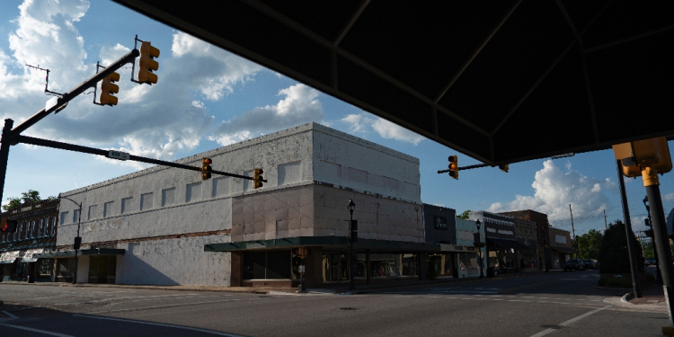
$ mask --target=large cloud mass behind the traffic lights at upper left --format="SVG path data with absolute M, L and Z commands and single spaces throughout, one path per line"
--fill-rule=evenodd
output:
M 15 123 L 49 100 L 42 93 L 45 73 L 24 64 L 49 68 L 49 89 L 58 92 L 72 89 L 96 70 L 95 63 L 86 61 L 84 38 L 76 29 L 89 8 L 87 1 L 26 0 L 19 8 L 17 28 L 9 34 L 10 51 L 0 49 L 0 119 Z M 195 93 L 207 102 L 219 100 L 262 67 L 182 32 L 173 34 L 172 49 L 173 55 L 157 59 L 157 84 L 134 84 L 128 80 L 130 65 L 122 67 L 119 105 L 93 105 L 93 95 L 83 94 L 24 133 L 164 160 L 189 152 L 212 130 L 215 119 Z M 108 66 L 129 50 L 113 43 L 96 54 Z

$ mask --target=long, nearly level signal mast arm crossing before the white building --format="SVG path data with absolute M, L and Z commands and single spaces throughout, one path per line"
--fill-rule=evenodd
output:
M 31 145 L 35 145 L 35 146 L 47 146 L 47 147 L 53 147 L 53 148 L 60 148 L 62 150 L 82 152 L 82 153 L 85 153 L 85 154 L 102 155 L 102 156 L 105 156 L 105 157 L 110 157 L 110 151 L 109 150 L 102 150 L 102 149 L 88 147 L 88 146 L 79 146 L 79 145 L 74 145 L 74 144 L 61 143 L 61 142 L 57 142 L 57 141 L 54 141 L 54 140 L 41 139 L 41 138 L 36 138 L 36 137 L 28 137 L 28 136 L 17 136 L 17 137 L 15 137 L 15 140 L 17 141 L 17 143 L 31 144 Z M 147 164 L 157 164 L 157 165 L 170 166 L 170 167 L 175 167 L 175 168 L 182 168 L 182 169 L 185 169 L 185 170 L 197 171 L 199 173 L 201 172 L 200 166 L 190 166 L 190 165 L 186 165 L 186 164 L 166 162 L 164 160 L 146 158 L 146 157 L 139 156 L 139 155 L 129 155 L 129 159 L 127 159 L 127 160 L 132 160 L 134 162 L 141 162 L 141 163 L 147 163 Z M 215 170 L 211 170 L 210 173 L 226 175 L 226 176 L 229 176 L 229 177 L 235 177 L 235 178 L 241 178 L 241 179 L 247 179 L 247 180 L 251 180 L 251 181 L 254 180 L 253 177 L 249 177 L 249 176 L 241 175 L 241 174 L 235 174 L 235 173 L 226 173 L 226 172 L 215 171 Z M 262 180 L 262 182 L 267 182 L 267 181 Z

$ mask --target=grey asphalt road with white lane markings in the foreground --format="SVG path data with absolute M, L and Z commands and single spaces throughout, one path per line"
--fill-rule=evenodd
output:
M 660 336 L 594 270 L 361 295 L 253 295 L 0 283 L 4 336 Z

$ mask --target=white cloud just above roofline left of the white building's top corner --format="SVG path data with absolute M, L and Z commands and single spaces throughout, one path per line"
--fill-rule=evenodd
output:
M 305 84 L 295 84 L 280 90 L 279 95 L 286 97 L 276 105 L 258 107 L 232 120 L 224 121 L 208 139 L 227 146 L 262 133 L 323 120 L 323 106 L 315 99 L 318 97 L 318 91 L 315 89 Z

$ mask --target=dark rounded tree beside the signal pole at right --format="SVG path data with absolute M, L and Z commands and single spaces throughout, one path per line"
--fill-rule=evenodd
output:
M 636 256 L 636 270 L 643 270 L 642 246 L 636 241 L 634 233 L 630 235 L 630 240 L 632 240 L 634 255 Z M 599 269 L 602 273 L 631 273 L 625 224 L 622 221 L 616 220 L 614 223 L 608 225 L 599 248 L 599 262 L 601 262 Z

